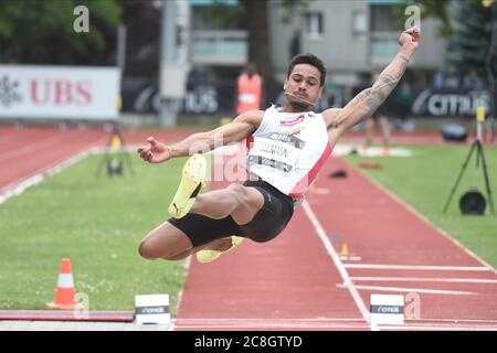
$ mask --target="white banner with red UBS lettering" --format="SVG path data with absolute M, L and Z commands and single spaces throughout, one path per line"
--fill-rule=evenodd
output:
M 115 119 L 116 67 L 0 65 L 0 119 Z

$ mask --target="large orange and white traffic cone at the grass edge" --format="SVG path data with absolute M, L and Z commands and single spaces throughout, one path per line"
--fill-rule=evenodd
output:
M 55 299 L 46 306 L 50 309 L 73 310 L 84 309 L 81 302 L 74 300 L 76 291 L 74 290 L 74 279 L 71 272 L 71 259 L 61 260 L 61 271 L 59 272 L 57 288 Z

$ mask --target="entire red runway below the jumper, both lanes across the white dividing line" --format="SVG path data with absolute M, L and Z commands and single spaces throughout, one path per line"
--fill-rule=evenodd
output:
M 348 178 L 329 179 L 339 168 Z M 361 260 L 337 259 L 332 233 Z M 412 318 L 410 307 L 403 327 L 371 325 L 371 293 L 414 295 L 419 317 Z M 308 203 L 275 240 L 245 240 L 212 264 L 191 261 L 175 324 L 176 330 L 497 330 L 497 275 L 331 158 Z

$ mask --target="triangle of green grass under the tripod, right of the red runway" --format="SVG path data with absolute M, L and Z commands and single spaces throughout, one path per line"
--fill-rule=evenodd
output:
M 409 146 L 406 148 L 415 153 L 413 158 L 368 159 L 379 161 L 383 168 L 362 171 L 496 268 L 497 216 L 491 215 L 488 200 L 486 213 L 483 216 L 463 215 L 458 205 L 459 197 L 470 186 L 477 186 L 487 199 L 483 168 L 482 165 L 476 168 L 476 153 L 472 156 L 447 213 L 443 214 L 443 207 L 469 152 L 469 147 Z M 351 156 L 348 160 L 357 164 L 363 159 Z M 497 148 L 485 147 L 485 160 L 494 202 L 496 202 Z

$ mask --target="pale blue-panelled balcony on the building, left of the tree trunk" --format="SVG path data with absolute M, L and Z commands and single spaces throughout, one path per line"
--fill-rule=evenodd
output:
M 245 65 L 248 55 L 246 31 L 193 31 L 191 61 L 200 65 Z

